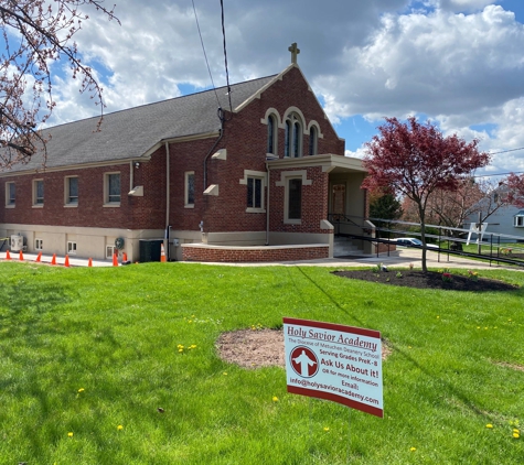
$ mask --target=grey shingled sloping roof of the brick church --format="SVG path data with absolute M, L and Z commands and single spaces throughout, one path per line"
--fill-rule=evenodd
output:
M 231 85 L 233 109 L 274 79 L 275 76 L 268 76 Z M 45 128 L 43 137 L 51 136 L 45 167 L 139 159 L 163 140 L 217 132 L 221 129 L 218 107 L 229 108 L 226 93 L 227 87 L 220 87 L 107 113 L 99 131 L 96 131 L 99 117 Z M 33 170 L 42 170 L 40 153 L 29 163 L 15 164 L 1 174 Z

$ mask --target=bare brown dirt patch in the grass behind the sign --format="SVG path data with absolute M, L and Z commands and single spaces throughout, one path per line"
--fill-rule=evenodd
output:
M 216 342 L 218 355 L 229 364 L 243 368 L 285 367 L 282 329 L 239 329 L 222 333 Z M 392 353 L 382 343 L 382 359 Z

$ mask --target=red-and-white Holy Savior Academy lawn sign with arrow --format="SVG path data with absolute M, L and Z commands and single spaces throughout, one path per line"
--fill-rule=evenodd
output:
M 288 392 L 383 418 L 381 333 L 284 318 Z

